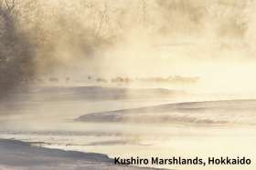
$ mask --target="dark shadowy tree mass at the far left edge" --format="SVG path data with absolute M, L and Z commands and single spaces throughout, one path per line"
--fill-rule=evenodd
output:
M 16 25 L 15 7 L 16 0 L 0 0 L 0 99 L 34 73 L 33 48 Z

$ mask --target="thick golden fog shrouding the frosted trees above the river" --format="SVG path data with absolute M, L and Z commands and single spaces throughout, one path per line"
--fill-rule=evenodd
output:
M 2 0 L 1 89 L 27 85 L 35 75 L 183 75 L 200 77 L 197 90 L 251 92 L 254 6 L 249 0 Z

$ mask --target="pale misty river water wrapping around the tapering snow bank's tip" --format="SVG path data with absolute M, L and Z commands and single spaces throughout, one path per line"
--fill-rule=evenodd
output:
M 80 115 L 159 105 L 170 101 L 144 100 L 24 102 L 5 109 L 0 138 L 15 138 L 51 148 L 103 153 L 114 156 L 247 156 L 255 169 L 256 131 L 253 125 L 186 125 L 89 123 L 73 121 Z M 2 107 L 1 112 L 3 112 Z M 9 112 L 9 113 L 8 113 Z M 244 113 L 243 113 L 244 114 Z M 184 113 L 182 114 L 184 115 Z M 189 116 L 189 112 L 186 116 Z M 228 115 L 227 115 L 228 116 Z M 233 118 L 233 117 L 230 117 Z M 164 167 L 164 166 L 156 166 Z M 240 166 L 165 165 L 176 169 L 237 169 Z

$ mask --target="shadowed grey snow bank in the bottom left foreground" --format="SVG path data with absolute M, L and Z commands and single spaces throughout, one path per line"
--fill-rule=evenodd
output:
M 117 166 L 107 155 L 48 149 L 16 140 L 0 139 L 0 169 L 139 170 L 150 168 Z

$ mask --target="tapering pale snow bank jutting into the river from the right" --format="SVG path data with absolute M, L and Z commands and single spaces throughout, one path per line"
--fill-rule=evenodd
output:
M 80 122 L 193 125 L 256 125 L 256 100 L 221 100 L 154 105 L 81 115 Z

